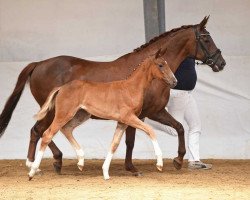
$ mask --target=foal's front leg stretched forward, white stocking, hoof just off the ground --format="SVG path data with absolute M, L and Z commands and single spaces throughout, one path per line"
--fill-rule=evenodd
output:
M 161 151 L 160 146 L 156 140 L 156 135 L 155 135 L 153 129 L 149 125 L 142 122 L 136 115 L 131 116 L 129 118 L 129 121 L 126 122 L 126 124 L 128 124 L 129 126 L 132 126 L 134 128 L 138 128 L 138 129 L 143 130 L 150 137 L 150 139 L 153 143 L 153 146 L 154 146 L 155 155 L 157 157 L 156 167 L 159 171 L 162 171 L 162 168 L 163 168 L 162 151 Z

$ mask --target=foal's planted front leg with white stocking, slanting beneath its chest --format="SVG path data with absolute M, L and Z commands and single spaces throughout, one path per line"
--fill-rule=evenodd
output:
M 120 144 L 122 135 L 123 135 L 124 131 L 126 130 L 126 128 L 127 128 L 126 124 L 122 124 L 120 122 L 117 123 L 114 137 L 113 137 L 112 143 L 110 145 L 110 150 L 109 150 L 108 155 L 107 155 L 107 157 L 102 165 L 103 177 L 105 180 L 108 180 L 110 178 L 109 177 L 109 166 L 110 166 L 112 157 L 113 157 L 117 147 Z

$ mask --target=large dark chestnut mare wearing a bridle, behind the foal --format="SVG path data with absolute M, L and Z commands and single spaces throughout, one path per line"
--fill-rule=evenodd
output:
M 96 82 L 110 82 L 121 80 L 131 74 L 134 66 L 137 66 L 149 55 L 155 53 L 162 46 L 167 47 L 164 59 L 173 72 L 186 57 L 193 57 L 209 65 L 213 71 L 220 71 L 226 65 L 220 50 L 216 47 L 212 37 L 206 30 L 208 17 L 200 24 L 182 26 L 168 31 L 133 52 L 126 54 L 112 62 L 94 62 L 74 58 L 70 56 L 59 56 L 41 62 L 29 64 L 18 77 L 15 89 L 7 100 L 3 112 L 0 115 L 0 136 L 3 135 L 12 113 L 19 101 L 26 82 L 30 82 L 31 93 L 40 106 L 43 105 L 47 96 L 53 88 L 61 86 L 72 80 L 89 80 Z M 140 119 L 148 117 L 162 124 L 172 126 L 178 133 L 178 158 L 174 160 L 174 166 L 180 169 L 185 155 L 185 141 L 183 126 L 177 122 L 165 110 L 169 99 L 170 88 L 160 80 L 153 80 L 143 102 Z M 34 161 L 36 145 L 43 132 L 49 127 L 54 117 L 54 111 L 49 112 L 46 117 L 36 122 L 31 129 L 29 152 L 26 165 L 30 166 Z M 79 118 L 81 112 L 76 113 L 72 124 L 77 126 L 81 123 Z M 69 122 L 71 123 L 71 122 Z M 138 170 L 132 164 L 132 151 L 134 148 L 135 128 L 126 129 L 126 159 L 125 168 L 135 175 Z M 53 141 L 49 144 L 54 155 L 53 163 L 56 172 L 60 173 L 62 167 L 62 152 Z

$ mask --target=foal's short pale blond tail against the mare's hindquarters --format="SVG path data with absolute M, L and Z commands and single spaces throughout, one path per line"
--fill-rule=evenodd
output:
M 46 114 L 54 107 L 55 97 L 60 89 L 61 89 L 61 87 L 56 87 L 50 92 L 50 94 L 47 97 L 45 103 L 43 104 L 41 110 L 36 115 L 34 115 L 34 118 L 37 121 L 43 119 L 46 116 Z

